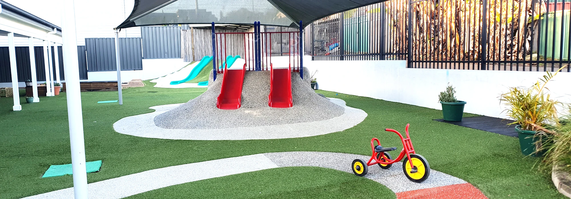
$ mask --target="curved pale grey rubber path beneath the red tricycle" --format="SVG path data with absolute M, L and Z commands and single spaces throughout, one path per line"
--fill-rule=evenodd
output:
M 368 156 L 355 154 L 303 151 L 230 157 L 152 169 L 127 176 L 116 177 L 114 179 L 91 183 L 87 185 L 87 190 L 90 199 L 123 198 L 167 186 L 278 167 L 311 166 L 331 168 L 351 173 L 351 163 L 353 159 L 356 158 L 369 159 Z M 231 163 L 230 167 L 228 163 Z M 101 172 L 105 172 L 104 168 Z M 91 175 L 97 174 L 94 173 Z M 466 183 L 457 177 L 434 170 L 431 170 L 431 175 L 423 183 L 412 183 L 404 176 L 402 163 L 400 162 L 393 164 L 393 166 L 387 170 L 380 169 L 376 165 L 373 165 L 369 167 L 369 174 L 364 177 L 387 186 L 387 188 L 395 193 Z M 53 192 L 26 198 L 73 198 L 73 188 L 55 190 Z

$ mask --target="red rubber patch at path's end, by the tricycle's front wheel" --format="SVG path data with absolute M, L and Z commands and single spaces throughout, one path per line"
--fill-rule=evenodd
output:
M 488 199 L 470 183 L 439 186 L 428 189 L 410 190 L 396 193 L 397 199 Z

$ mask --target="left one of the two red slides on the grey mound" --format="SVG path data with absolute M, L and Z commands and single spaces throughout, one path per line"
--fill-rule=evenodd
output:
M 242 105 L 242 84 L 244 83 L 244 74 L 246 73 L 246 64 L 241 70 L 228 68 L 224 69 L 222 78 L 222 89 L 216 102 L 219 109 L 234 110 L 239 109 Z

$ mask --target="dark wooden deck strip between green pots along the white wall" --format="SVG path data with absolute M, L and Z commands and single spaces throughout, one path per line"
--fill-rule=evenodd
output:
M 508 135 L 517 138 L 516 125 L 507 125 L 514 121 L 502 118 L 493 118 L 488 116 L 477 116 L 462 118 L 460 122 L 449 122 L 444 119 L 434 119 L 435 121 L 451 123 L 452 125 L 464 126 L 468 128 L 476 128 L 482 131 L 494 132 L 496 134 Z

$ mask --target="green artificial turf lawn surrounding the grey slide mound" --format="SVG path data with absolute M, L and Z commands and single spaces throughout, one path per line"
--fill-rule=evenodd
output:
M 100 99 L 116 98 L 117 92 L 82 92 L 87 161 L 104 162 L 100 172 L 87 174 L 89 183 L 171 165 L 264 152 L 329 151 L 371 155 L 369 141 L 372 137 L 380 138 L 384 146 L 400 148 L 400 139 L 392 132 L 383 130 L 394 128 L 403 131 L 404 126 L 411 123 L 415 150 L 427 158 L 432 169 L 472 183 L 489 198 L 565 198 L 557 193 L 547 173 L 538 173 L 532 168 L 536 158 L 521 155 L 517 138 L 432 121 L 442 118 L 440 110 L 345 94 L 336 96 L 333 92 L 318 91 L 328 97 L 341 98 L 348 106 L 363 109 L 368 113 L 365 121 L 332 134 L 273 140 L 166 140 L 115 132 L 112 124 L 120 118 L 150 113 L 154 111 L 148 109 L 151 106 L 187 102 L 206 90 L 154 88 L 154 83 L 145 83 L 145 87 L 124 89 L 123 105 L 96 103 Z M 12 98 L 0 98 L 0 198 L 19 198 L 73 186 L 71 176 L 41 179 L 50 165 L 71 162 L 65 94 L 41 97 L 39 103 L 23 103 L 22 111 L 11 110 Z M 21 101 L 24 101 L 23 97 Z M 228 167 L 232 167 L 232 164 L 228 163 Z M 294 169 L 297 172 L 305 171 L 305 168 Z M 297 195 L 296 191 L 304 188 L 301 184 L 311 183 L 332 172 L 316 169 L 323 172 L 303 175 L 297 181 L 300 186 L 272 189 L 275 191 L 272 194 L 276 194 L 276 197 L 278 194 L 281 194 L 279 197 L 303 197 Z M 287 174 L 282 171 L 270 169 L 258 172 Z M 350 175 L 343 176 L 349 178 Z M 284 180 L 289 180 L 287 177 L 272 180 L 274 177 L 261 175 L 259 180 L 268 181 L 270 184 L 267 186 L 272 187 L 278 185 L 271 183 L 283 184 Z M 188 184 L 192 187 L 185 184 L 176 188 L 217 186 L 217 180 L 237 185 L 234 189 L 248 188 L 247 183 L 232 176 L 197 181 Z M 356 186 L 359 185 L 349 183 L 347 189 L 341 189 L 338 193 L 348 196 L 360 190 Z M 321 186 L 314 187 L 306 193 L 320 191 Z M 333 189 L 339 185 L 324 187 Z M 388 190 L 380 184 L 376 188 Z M 165 198 L 178 196 L 177 192 L 162 190 L 153 193 L 164 194 Z M 201 194 L 207 192 L 215 190 L 205 190 Z M 219 189 L 217 193 L 223 192 L 223 189 Z

